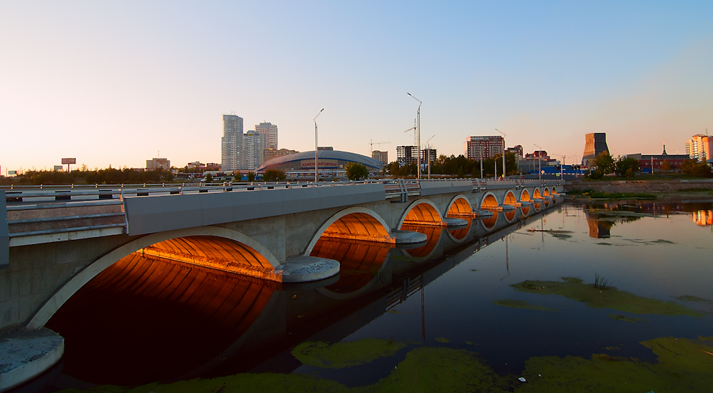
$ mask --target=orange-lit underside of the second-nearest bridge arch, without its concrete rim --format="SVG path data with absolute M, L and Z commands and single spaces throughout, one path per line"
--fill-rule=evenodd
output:
M 327 228 L 322 236 L 332 239 L 350 239 L 359 241 L 378 241 L 394 243 L 384 225 L 366 213 L 351 213 L 342 216 Z

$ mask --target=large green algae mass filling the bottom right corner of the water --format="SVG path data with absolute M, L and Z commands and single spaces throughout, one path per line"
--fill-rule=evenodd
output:
M 657 363 L 605 354 L 592 355 L 589 360 L 531 357 L 523 372 L 528 383 L 515 392 L 710 392 L 713 356 L 706 352 L 713 352 L 713 342 L 704 338 L 659 337 L 642 342 L 657 355 Z

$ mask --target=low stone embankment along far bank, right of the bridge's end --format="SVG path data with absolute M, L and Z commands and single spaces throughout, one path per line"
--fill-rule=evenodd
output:
M 598 192 L 659 193 L 680 189 L 713 189 L 713 179 L 614 180 L 600 182 L 568 182 L 565 192 L 592 189 Z

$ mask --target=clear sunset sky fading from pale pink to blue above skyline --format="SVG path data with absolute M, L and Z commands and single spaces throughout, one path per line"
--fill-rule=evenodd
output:
M 279 147 L 580 161 L 713 135 L 713 1 L 0 1 L 0 170 L 220 162 L 222 114 Z M 376 142 L 389 142 L 376 145 Z M 554 155 L 557 158 L 558 156 Z

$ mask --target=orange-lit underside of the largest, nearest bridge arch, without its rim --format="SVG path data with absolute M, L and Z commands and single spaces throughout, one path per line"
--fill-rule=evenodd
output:
M 169 239 L 141 248 L 133 254 L 281 281 L 280 276 L 272 273 L 275 267 L 254 248 L 216 236 Z

